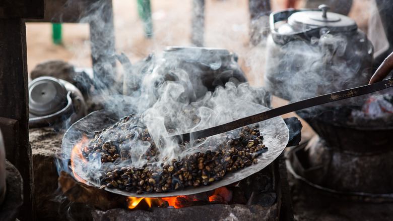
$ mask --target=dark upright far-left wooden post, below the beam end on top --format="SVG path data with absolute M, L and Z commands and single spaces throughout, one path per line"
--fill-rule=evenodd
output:
M 26 52 L 26 26 L 23 19 L 0 19 L 0 117 L 16 120 L 19 133 L 19 154 L 7 156 L 23 178 L 24 204 L 20 220 L 34 219 L 33 165 L 28 131 L 28 77 Z M 17 144 L 16 144 L 17 145 Z M 15 157 L 15 158 L 11 158 Z

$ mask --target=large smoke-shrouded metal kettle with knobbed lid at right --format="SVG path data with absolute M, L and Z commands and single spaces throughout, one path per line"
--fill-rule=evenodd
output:
M 368 83 L 372 43 L 354 20 L 328 10 L 270 15 L 264 84 L 274 95 L 294 101 Z

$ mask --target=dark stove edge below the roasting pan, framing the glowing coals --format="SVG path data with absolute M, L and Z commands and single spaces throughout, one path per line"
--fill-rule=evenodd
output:
M 248 188 L 245 204 L 206 204 L 174 208 L 154 207 L 148 210 L 92 210 L 93 220 L 188 219 L 188 220 L 292 220 L 292 204 L 283 158 L 278 158 L 264 170 L 240 181 Z M 258 182 L 256 184 L 256 182 Z M 252 193 L 251 193 L 252 192 Z

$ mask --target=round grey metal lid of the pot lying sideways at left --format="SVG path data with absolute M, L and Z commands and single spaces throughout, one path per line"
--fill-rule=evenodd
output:
M 54 77 L 39 77 L 29 85 L 29 112 L 37 116 L 54 114 L 67 103 L 67 90 Z

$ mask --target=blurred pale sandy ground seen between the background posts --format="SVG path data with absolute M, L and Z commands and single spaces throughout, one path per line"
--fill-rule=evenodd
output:
M 139 1 L 141 2 L 141 1 Z M 247 0 L 206 0 L 204 46 L 221 47 L 235 52 L 239 65 L 251 85 L 263 84 L 265 48 L 250 43 L 250 12 Z M 293 5 L 295 8 L 318 5 L 329 1 L 305 0 L 271 1 L 272 11 Z M 356 21 L 360 30 L 367 33 L 371 0 L 354 0 L 348 16 Z M 151 0 L 153 32 L 145 35 L 138 1 L 113 0 L 116 53 L 124 52 L 132 63 L 140 61 L 166 46 L 192 46 L 192 1 Z M 289 4 L 289 5 L 288 5 Z M 26 23 L 29 73 L 37 64 L 48 60 L 61 60 L 76 67 L 92 66 L 89 43 L 89 25 L 62 23 L 53 31 L 51 23 Z M 59 35 L 58 31 L 61 30 Z M 53 38 L 55 34 L 55 38 Z M 57 36 L 56 36 L 57 35 Z M 56 43 L 54 43 L 56 41 Z M 117 65 L 118 74 L 121 67 Z

